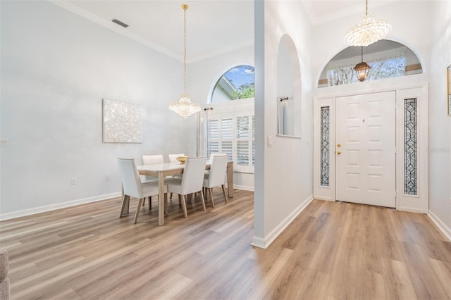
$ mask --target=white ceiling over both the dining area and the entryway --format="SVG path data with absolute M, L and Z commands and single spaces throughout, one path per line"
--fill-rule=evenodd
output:
M 254 44 L 253 0 L 49 0 L 111 30 L 183 61 L 183 9 L 187 3 L 187 61 Z M 286 0 L 285 0 L 286 1 Z M 302 1 L 313 25 L 364 13 L 364 0 Z M 395 0 L 371 0 L 371 8 Z M 121 20 L 123 28 L 112 23 Z M 357 19 L 356 19 L 357 22 Z

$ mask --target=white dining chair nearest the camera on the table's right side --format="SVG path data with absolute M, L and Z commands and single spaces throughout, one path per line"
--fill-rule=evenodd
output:
M 171 182 L 168 182 L 168 192 L 177 193 L 179 197 L 181 197 L 183 215 L 185 218 L 188 217 L 186 209 L 186 196 L 189 194 L 200 192 L 202 206 L 204 211 L 206 211 L 204 193 L 202 192 L 205 165 L 206 157 L 189 157 L 186 160 L 182 178 L 175 178 Z

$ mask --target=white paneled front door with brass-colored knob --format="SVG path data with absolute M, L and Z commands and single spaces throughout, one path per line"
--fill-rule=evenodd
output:
M 395 92 L 335 99 L 336 199 L 395 207 Z

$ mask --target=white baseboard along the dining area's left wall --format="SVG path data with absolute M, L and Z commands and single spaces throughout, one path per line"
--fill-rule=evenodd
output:
M 111 198 L 116 198 L 121 196 L 121 192 L 112 193 L 112 194 L 104 194 L 100 196 L 89 197 L 85 199 L 78 199 L 73 201 L 67 201 L 63 203 L 51 204 L 46 206 L 39 206 L 36 208 L 25 209 L 23 211 L 13 211 L 12 213 L 2 213 L 0 214 L 0 220 L 10 220 L 13 218 L 24 217 L 25 215 L 34 215 L 35 213 L 45 213 L 46 211 L 54 211 L 59 208 L 66 208 L 70 206 L 76 206 L 80 204 L 86 204 L 95 201 L 101 201 Z

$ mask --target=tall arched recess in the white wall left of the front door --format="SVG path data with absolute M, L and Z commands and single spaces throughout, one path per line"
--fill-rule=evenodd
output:
M 280 38 L 277 56 L 278 135 L 301 137 L 301 68 L 297 49 L 290 35 Z

